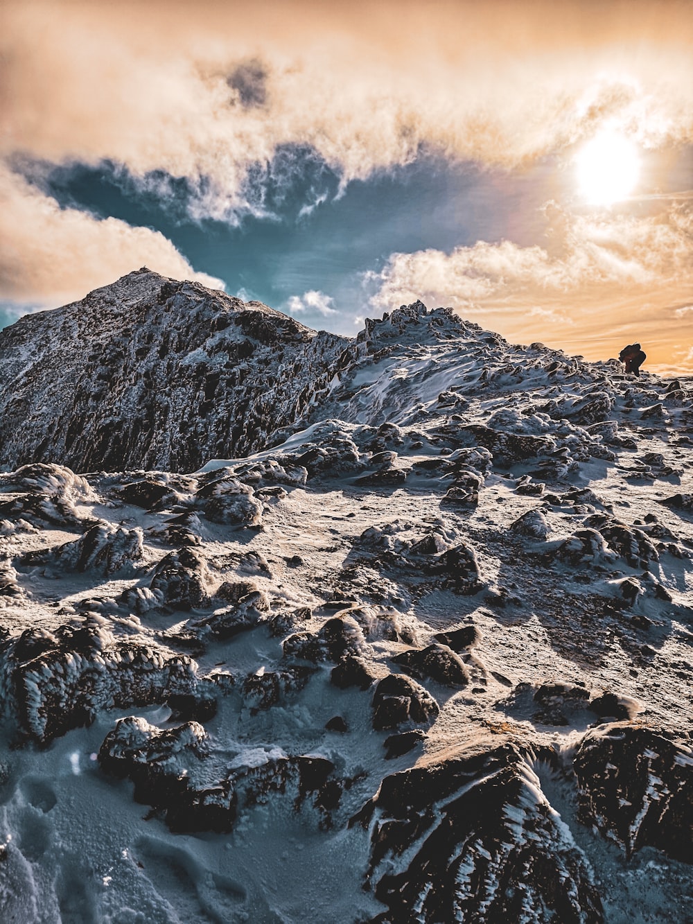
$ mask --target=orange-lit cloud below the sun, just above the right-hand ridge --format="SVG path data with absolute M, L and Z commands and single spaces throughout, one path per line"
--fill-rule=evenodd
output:
M 599 219 L 552 208 L 546 248 L 478 241 L 450 253 L 392 254 L 381 273 L 368 274 L 371 304 L 449 305 L 524 343 L 548 339 L 550 322 L 560 346 L 588 359 L 647 341 L 650 368 L 670 362 L 670 345 L 693 338 L 693 212 L 681 205 Z

